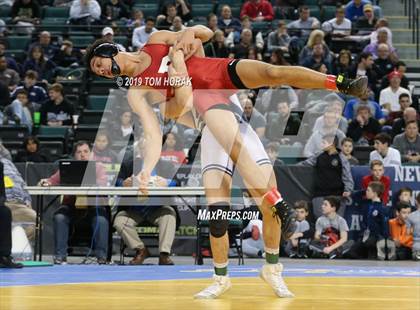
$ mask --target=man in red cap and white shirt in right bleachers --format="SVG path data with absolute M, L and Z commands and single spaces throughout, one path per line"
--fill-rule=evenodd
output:
M 410 96 L 410 104 L 412 102 L 409 90 L 400 86 L 401 77 L 401 73 L 396 70 L 392 71 L 388 74 L 389 87 L 381 90 L 379 104 L 389 112 L 400 111 L 399 97 L 401 94 L 408 94 Z

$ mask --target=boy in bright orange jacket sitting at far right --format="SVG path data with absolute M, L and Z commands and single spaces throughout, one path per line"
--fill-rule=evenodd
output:
M 397 217 L 389 220 L 389 232 L 396 247 L 396 257 L 392 259 L 405 260 L 412 256 L 413 234 L 407 230 L 407 219 L 411 212 L 411 206 L 405 203 L 397 204 Z

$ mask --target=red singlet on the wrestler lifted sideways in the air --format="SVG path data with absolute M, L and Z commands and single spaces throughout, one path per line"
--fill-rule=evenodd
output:
M 167 90 L 167 96 L 173 95 L 172 88 L 163 83 L 168 78 L 169 45 L 146 44 L 142 52 L 150 55 L 150 66 L 137 78 L 141 78 L 142 85 L 155 89 Z M 191 56 L 186 62 L 188 75 L 194 92 L 194 107 L 203 115 L 208 109 L 218 104 L 229 104 L 229 97 L 237 89 L 245 89 L 236 74 L 235 67 L 238 60 L 230 58 L 208 58 Z M 146 78 L 153 77 L 161 81 L 160 85 L 146 83 Z

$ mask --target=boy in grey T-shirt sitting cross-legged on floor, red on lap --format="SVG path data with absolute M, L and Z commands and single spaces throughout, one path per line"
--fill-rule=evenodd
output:
M 340 208 L 340 197 L 325 197 L 322 203 L 323 215 L 315 224 L 315 240 L 309 248 L 317 254 L 328 256 L 330 259 L 347 253 L 353 241 L 348 241 L 346 220 L 337 214 Z

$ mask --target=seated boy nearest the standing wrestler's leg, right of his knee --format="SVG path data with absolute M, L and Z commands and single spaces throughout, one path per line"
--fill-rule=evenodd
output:
M 287 240 L 285 251 L 290 258 L 307 258 L 307 247 L 314 233 L 313 227 L 306 220 L 309 214 L 308 203 L 303 200 L 297 201 L 295 203 L 295 210 L 297 219 L 296 230 L 290 239 Z

